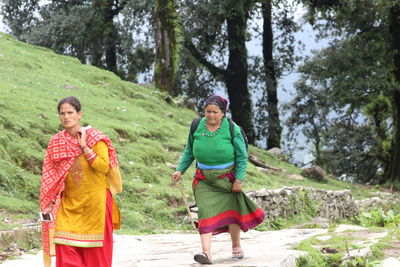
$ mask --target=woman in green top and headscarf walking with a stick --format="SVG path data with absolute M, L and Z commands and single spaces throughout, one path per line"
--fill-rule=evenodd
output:
M 241 259 L 240 230 L 256 227 L 264 220 L 263 211 L 242 192 L 247 168 L 247 148 L 239 126 L 225 113 L 226 99 L 212 95 L 188 142 L 172 181 L 178 182 L 191 163 L 197 161 L 193 192 L 198 206 L 198 226 L 203 252 L 194 256 L 202 264 L 211 263 L 211 237 L 229 232 L 232 258 Z M 233 123 L 233 135 L 230 130 Z

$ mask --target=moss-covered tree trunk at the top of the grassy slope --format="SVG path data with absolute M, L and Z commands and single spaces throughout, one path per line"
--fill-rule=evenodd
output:
M 155 24 L 154 84 L 173 95 L 178 64 L 175 0 L 156 1 Z

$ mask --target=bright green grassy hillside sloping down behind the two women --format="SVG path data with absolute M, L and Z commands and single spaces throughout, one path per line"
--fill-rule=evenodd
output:
M 155 88 L 122 81 L 111 72 L 1 33 L 0 81 L 0 229 L 36 220 L 44 151 L 61 129 L 56 104 L 69 95 L 80 99 L 84 124 L 106 133 L 117 149 L 124 185 L 117 197 L 122 231 L 189 229 L 182 224 L 185 208 L 166 163 L 177 163 L 196 116 L 193 111 L 167 104 L 165 93 Z M 261 149 L 250 151 L 286 172 L 266 175 L 249 164 L 245 190 L 305 185 L 366 193 L 334 179 L 326 184 L 290 180 L 287 175 L 299 169 Z M 189 201 L 193 171 L 192 167 L 183 177 Z

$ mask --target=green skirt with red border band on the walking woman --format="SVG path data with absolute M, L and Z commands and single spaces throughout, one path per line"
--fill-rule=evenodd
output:
M 200 234 L 228 232 L 230 224 L 246 232 L 264 221 L 264 212 L 245 193 L 232 192 L 232 169 L 196 170 L 193 192 Z

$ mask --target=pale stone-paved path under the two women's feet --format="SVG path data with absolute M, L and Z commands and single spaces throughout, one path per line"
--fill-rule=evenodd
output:
M 304 239 L 326 233 L 327 229 L 285 229 L 249 231 L 242 234 L 245 257 L 231 259 L 228 234 L 213 237 L 213 266 L 295 267 L 295 259 L 303 252 L 292 247 Z M 113 267 L 201 266 L 193 255 L 201 251 L 198 234 L 115 235 Z M 54 260 L 53 260 L 54 261 Z M 9 260 L 1 267 L 42 267 L 42 255 L 25 254 Z

